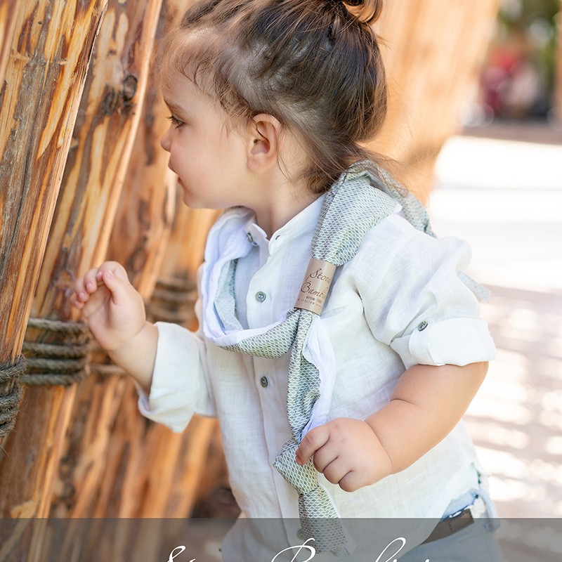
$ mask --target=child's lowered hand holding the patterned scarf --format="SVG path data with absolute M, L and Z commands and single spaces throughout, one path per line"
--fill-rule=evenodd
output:
M 304 436 L 296 462 L 313 456 L 316 470 L 346 492 L 355 492 L 391 474 L 391 459 L 370 425 L 360 419 L 340 417 Z

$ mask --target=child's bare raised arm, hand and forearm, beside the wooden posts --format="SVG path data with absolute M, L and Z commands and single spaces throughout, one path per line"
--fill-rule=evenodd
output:
M 77 280 L 70 296 L 116 365 L 148 393 L 154 370 L 158 331 L 146 321 L 143 299 L 123 266 L 107 261 Z

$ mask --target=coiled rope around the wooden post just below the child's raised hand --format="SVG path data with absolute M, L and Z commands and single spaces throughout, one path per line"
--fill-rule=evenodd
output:
M 70 386 L 89 374 L 91 334 L 84 322 L 30 318 L 27 327 L 45 334 L 58 334 L 60 341 L 23 342 L 22 351 L 27 356 L 23 384 Z

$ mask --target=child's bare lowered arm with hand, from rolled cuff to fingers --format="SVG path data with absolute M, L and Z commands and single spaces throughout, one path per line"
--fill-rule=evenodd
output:
M 414 365 L 390 403 L 365 421 L 338 418 L 304 436 L 296 460 L 314 456 L 318 471 L 348 492 L 400 472 L 443 440 L 481 386 L 487 362 Z

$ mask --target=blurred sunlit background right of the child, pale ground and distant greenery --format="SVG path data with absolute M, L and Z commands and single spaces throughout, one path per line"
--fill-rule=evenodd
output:
M 498 349 L 466 421 L 503 517 L 562 516 L 561 4 L 502 0 L 429 197 L 469 240 Z

